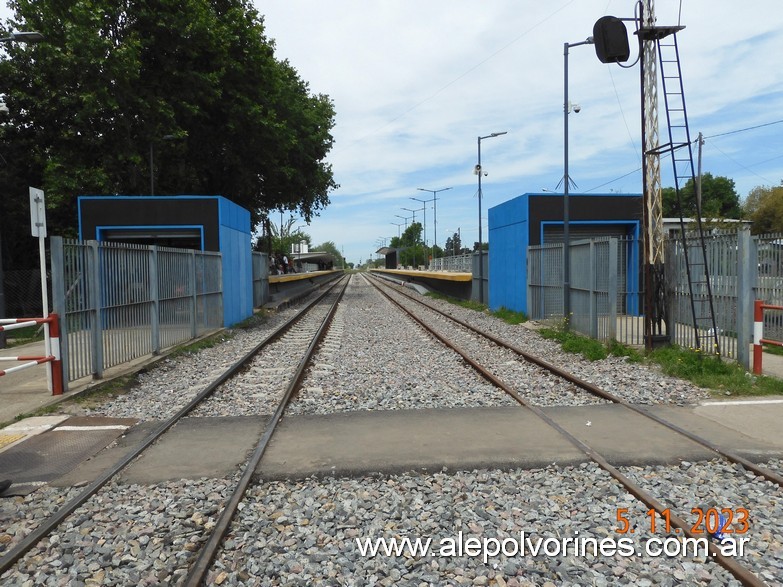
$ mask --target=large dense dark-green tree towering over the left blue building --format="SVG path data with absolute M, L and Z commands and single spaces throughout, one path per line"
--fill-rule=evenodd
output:
M 0 62 L 4 244 L 25 224 L 8 211 L 26 210 L 29 185 L 46 191 L 52 232 L 70 236 L 77 195 L 148 194 L 151 176 L 155 193 L 223 195 L 253 226 L 328 205 L 334 107 L 275 57 L 249 0 L 9 5 L 6 30 L 45 40 Z

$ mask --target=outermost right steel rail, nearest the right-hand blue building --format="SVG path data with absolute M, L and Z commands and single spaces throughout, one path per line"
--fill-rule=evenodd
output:
M 632 404 L 632 403 L 624 400 L 621 397 L 618 397 L 618 396 L 616 396 L 616 395 L 614 395 L 612 393 L 609 393 L 608 391 L 606 391 L 604 389 L 601 389 L 600 387 L 598 387 L 598 386 L 596 386 L 596 385 L 594 385 L 594 384 L 592 384 L 592 383 L 590 383 L 588 381 L 585 381 L 584 379 L 580 379 L 579 377 L 577 377 L 573 373 L 569 373 L 568 371 L 565 371 L 564 369 L 561 369 L 560 367 L 557 367 L 556 365 L 553 365 L 553 364 L 545 361 L 544 359 L 541 359 L 540 357 L 537 357 L 535 355 L 532 355 L 532 354 L 528 353 L 527 351 L 524 351 L 524 350 L 520 349 L 519 347 L 511 344 L 510 342 L 504 341 L 504 340 L 496 337 L 495 335 L 493 335 L 493 334 L 491 334 L 489 332 L 484 332 L 480 328 L 476 328 L 475 326 L 473 326 L 471 324 L 468 324 L 467 322 L 464 322 L 463 320 L 460 320 L 459 318 L 455 318 L 454 316 L 451 316 L 450 314 L 447 314 L 447 313 L 439 310 L 438 308 L 435 308 L 433 306 L 430 306 L 429 304 L 425 304 L 424 302 L 422 302 L 420 300 L 417 300 L 415 297 L 409 295 L 407 292 L 398 291 L 397 293 L 399 293 L 400 295 L 405 296 L 406 298 L 408 298 L 409 300 L 411 300 L 413 302 L 416 302 L 417 304 L 421 304 L 421 305 L 425 306 L 426 308 L 431 309 L 432 311 L 440 314 L 441 316 L 444 316 L 445 318 L 448 318 L 449 320 L 452 320 L 453 322 L 456 322 L 460 326 L 462 326 L 464 328 L 467 328 L 468 330 L 470 330 L 472 332 L 475 332 L 476 334 L 478 334 L 480 336 L 483 336 L 484 338 L 486 338 L 487 340 L 493 342 L 494 344 L 496 344 L 496 345 L 498 345 L 498 346 L 500 346 L 502 348 L 508 349 L 508 350 L 510 350 L 510 351 L 512 351 L 512 352 L 514 352 L 516 354 L 518 354 L 519 356 L 521 356 L 523 359 L 525 359 L 529 363 L 533 363 L 534 365 L 538 365 L 539 367 L 542 367 L 543 369 L 546 369 L 547 371 L 549 371 L 553 375 L 561 377 L 561 378 L 563 378 L 563 379 L 573 383 L 574 385 L 576 385 L 578 387 L 581 387 L 585 391 L 587 391 L 589 393 L 592 393 L 593 395 L 596 395 L 598 397 L 606 399 L 606 400 L 608 400 L 610 402 L 619 404 L 619 405 L 621 405 L 621 406 L 623 406 L 623 407 L 625 407 L 625 408 L 627 408 L 629 410 L 632 410 L 632 411 L 636 412 L 637 414 L 641 414 L 642 416 L 657 422 L 658 424 L 660 424 L 662 426 L 665 426 L 666 428 L 669 428 L 670 430 L 673 430 L 674 432 L 682 434 L 686 438 L 688 438 L 688 439 L 696 442 L 697 444 L 700 444 L 703 447 L 713 451 L 714 453 L 720 455 L 721 457 L 725 458 L 726 460 L 731 461 L 732 463 L 735 463 L 735 464 L 742 465 L 743 467 L 745 467 L 746 469 L 752 471 L 753 473 L 755 473 L 759 477 L 763 477 L 764 479 L 766 479 L 768 481 L 772 481 L 773 483 L 776 483 L 776 484 L 778 484 L 778 485 L 783 487 L 783 475 L 779 475 L 778 473 L 776 473 L 776 472 L 774 472 L 774 471 L 772 471 L 770 469 L 766 469 L 766 468 L 764 468 L 764 467 L 762 467 L 762 466 L 760 466 L 760 465 L 758 465 L 758 464 L 756 464 L 756 463 L 746 459 L 743 456 L 740 456 L 740 455 L 738 455 L 736 453 L 727 451 L 727 450 L 719 447 L 714 442 L 712 442 L 712 441 L 710 441 L 710 440 L 708 440 L 706 438 L 702 438 L 701 436 L 699 436 L 697 434 L 694 434 L 693 432 L 690 432 L 689 430 L 686 430 L 686 429 L 678 426 L 677 424 L 673 424 L 672 422 L 669 422 L 668 420 L 665 420 L 664 418 L 662 418 L 661 416 L 658 416 L 657 414 L 652 413 L 648 408 L 646 408 L 644 406 Z

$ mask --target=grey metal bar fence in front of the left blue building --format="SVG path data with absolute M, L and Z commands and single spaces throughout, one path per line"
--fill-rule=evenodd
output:
M 52 237 L 51 258 L 66 382 L 223 324 L 220 253 Z

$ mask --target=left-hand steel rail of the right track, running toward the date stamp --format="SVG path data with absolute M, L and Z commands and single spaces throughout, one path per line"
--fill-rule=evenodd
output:
M 523 397 L 521 397 L 514 389 L 506 385 L 503 381 L 498 379 L 496 376 L 494 376 L 492 373 L 490 373 L 487 369 L 485 369 L 481 364 L 473 360 L 470 356 L 468 356 L 465 352 L 462 351 L 459 347 L 454 345 L 450 340 L 448 340 L 443 335 L 439 334 L 432 328 L 430 328 L 424 321 L 422 321 L 419 317 L 414 315 L 410 310 L 405 308 L 402 304 L 400 304 L 397 300 L 392 298 L 390 295 L 388 295 L 386 292 L 384 292 L 381 288 L 377 286 L 377 284 L 373 284 L 378 291 L 385 296 L 389 301 L 391 301 L 394 305 L 396 305 L 398 308 L 400 308 L 403 312 L 405 312 L 412 320 L 417 322 L 422 328 L 424 328 L 428 333 L 430 333 L 433 337 L 438 339 L 440 342 L 442 342 L 444 345 L 446 345 L 448 348 L 452 349 L 454 352 L 459 354 L 463 360 L 465 360 L 466 363 L 468 363 L 473 369 L 476 370 L 477 373 L 479 373 L 482 377 L 484 377 L 487 381 L 492 383 L 493 385 L 499 387 L 503 391 L 505 391 L 508 395 L 510 395 L 514 400 L 516 400 L 521 406 L 528 408 L 530 411 L 532 411 L 535 415 L 537 415 L 541 420 L 543 420 L 546 424 L 551 426 L 554 430 L 559 432 L 566 440 L 568 440 L 571 444 L 573 444 L 576 448 L 581 450 L 588 458 L 590 458 L 593 462 L 595 462 L 599 467 L 601 467 L 604 471 L 609 473 L 618 483 L 620 483 L 623 487 L 625 487 L 629 493 L 631 493 L 633 496 L 635 496 L 640 501 L 644 502 L 645 505 L 648 507 L 654 509 L 656 512 L 658 512 L 660 515 L 663 515 L 663 511 L 666 508 L 664 504 L 662 504 L 660 501 L 655 499 L 651 494 L 647 493 L 644 489 L 642 489 L 639 485 L 634 483 L 631 479 L 623 475 L 616 467 L 614 467 L 611 463 L 609 463 L 603 456 L 601 456 L 600 453 L 596 452 L 590 445 L 583 442 L 570 432 L 568 432 L 565 428 L 560 426 L 557 422 L 555 422 L 552 418 L 550 418 L 546 413 L 544 413 L 541 408 L 538 406 L 535 406 L 531 403 L 529 403 L 527 400 L 525 400 Z M 407 297 L 407 296 L 406 296 Z M 414 300 L 416 301 L 416 300 Z M 427 308 L 431 308 L 427 304 L 421 304 Z M 434 309 L 434 308 L 433 308 Z M 439 312 L 440 313 L 440 312 Z M 442 313 L 441 313 L 442 314 Z M 451 318 L 450 316 L 443 314 L 444 316 L 447 316 Z M 505 346 L 505 345 L 504 345 Z M 671 510 L 670 510 L 671 511 Z M 692 539 L 698 539 L 699 537 L 691 532 L 691 525 L 689 525 L 685 520 L 680 518 L 679 516 L 675 516 L 670 514 L 669 520 L 671 522 L 671 525 L 675 528 L 678 528 L 683 534 L 685 534 L 687 537 Z M 746 587 L 764 587 L 766 583 L 761 581 L 752 571 L 747 569 L 746 567 L 743 567 L 733 559 L 723 556 L 721 551 L 711 542 L 707 543 L 707 548 L 710 552 L 711 557 L 713 560 L 718 562 L 722 567 L 724 567 L 727 571 L 729 571 L 734 577 L 737 578 L 743 585 Z

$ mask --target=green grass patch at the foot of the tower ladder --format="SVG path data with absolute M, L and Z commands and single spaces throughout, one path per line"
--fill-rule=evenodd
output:
M 717 356 L 671 346 L 656 349 L 649 358 L 658 363 L 667 375 L 728 395 L 783 394 L 783 381 L 752 375 L 737 363 L 722 361 Z

